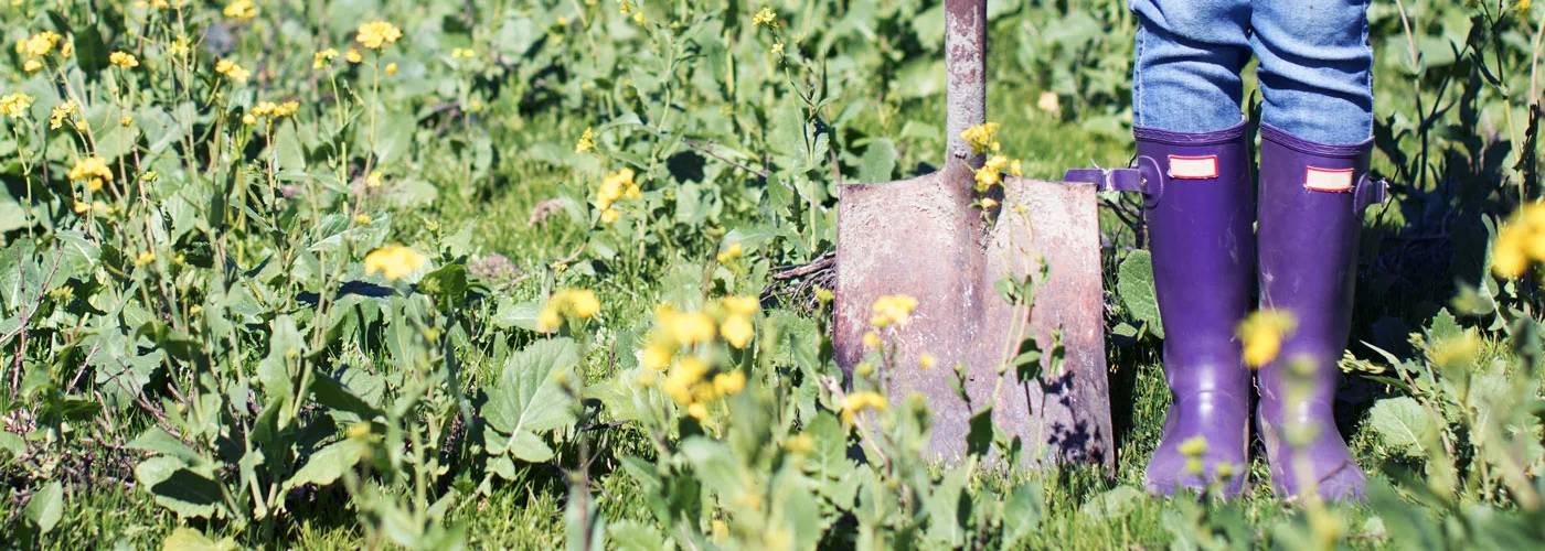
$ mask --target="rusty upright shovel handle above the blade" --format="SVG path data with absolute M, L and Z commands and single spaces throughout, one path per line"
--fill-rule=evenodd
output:
M 983 156 L 972 153 L 961 131 L 987 122 L 987 0 L 944 2 L 944 73 L 946 162 L 978 168 Z

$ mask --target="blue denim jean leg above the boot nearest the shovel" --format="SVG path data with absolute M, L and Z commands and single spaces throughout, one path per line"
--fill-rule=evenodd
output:
M 1134 123 L 1176 133 L 1238 125 L 1250 0 L 1132 0 L 1131 8 Z

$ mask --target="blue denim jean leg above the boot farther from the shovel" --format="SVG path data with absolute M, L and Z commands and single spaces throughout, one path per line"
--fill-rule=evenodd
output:
M 1251 48 L 1265 123 L 1326 145 L 1374 136 L 1369 0 L 1258 0 Z

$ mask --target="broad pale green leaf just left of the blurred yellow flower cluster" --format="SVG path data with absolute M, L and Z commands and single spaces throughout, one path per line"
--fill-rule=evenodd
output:
M 567 338 L 536 341 L 505 360 L 497 386 L 488 389 L 484 415 L 510 435 L 511 455 L 524 461 L 552 458 L 539 434 L 573 423 L 570 398 L 555 378 L 569 377 L 578 363 L 579 347 Z

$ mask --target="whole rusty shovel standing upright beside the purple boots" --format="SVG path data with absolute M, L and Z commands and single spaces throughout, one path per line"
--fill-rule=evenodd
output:
M 964 458 L 972 417 L 995 404 L 992 421 L 1031 451 L 1027 463 L 1086 461 L 1109 474 L 1115 448 L 1095 201 L 1103 185 L 1006 176 L 1000 207 L 984 216 L 973 205 L 973 171 L 984 159 L 961 131 L 986 122 L 986 25 L 984 0 L 946 2 L 944 168 L 837 191 L 837 363 L 851 380 L 873 352 L 864 335 L 878 298 L 916 298 L 910 319 L 887 329 L 891 360 L 879 380 L 893 401 L 925 397 L 935 460 Z M 1004 281 L 1032 281 L 1034 301 L 1006 299 Z M 1026 340 L 1043 353 L 1040 369 L 1021 380 L 1007 363 Z M 922 366 L 924 355 L 933 367 Z M 969 401 L 956 390 L 956 366 Z

